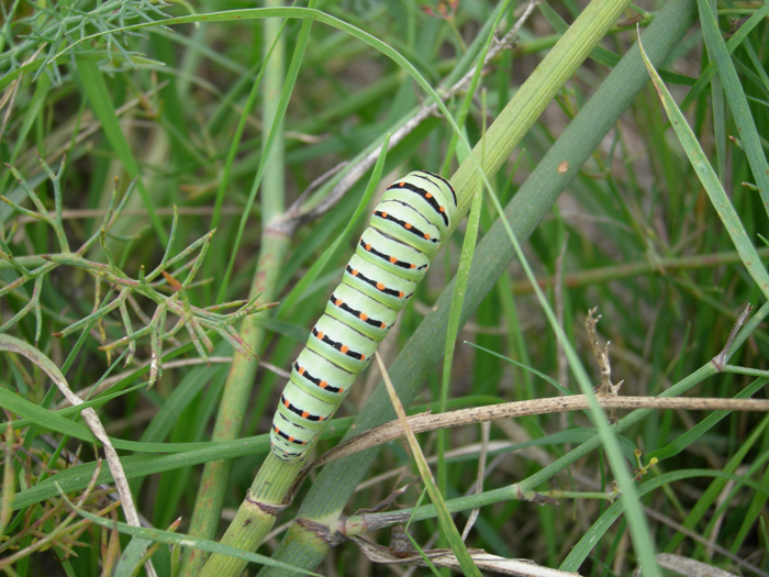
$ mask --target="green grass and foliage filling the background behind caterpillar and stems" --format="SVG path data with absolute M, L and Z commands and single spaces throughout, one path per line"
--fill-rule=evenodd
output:
M 694 162 L 710 163 L 714 182 L 703 187 L 688 157 L 696 153 L 686 142 L 681 146 L 650 84 L 594 151 L 566 131 L 629 52 L 635 25 L 643 31 L 655 22 L 664 7 L 654 3 L 626 10 L 514 153 L 488 142 L 489 154 L 510 155 L 488 176 L 493 195 L 506 206 L 537 176 L 536 167 L 544 166 L 540 160 L 556 149 L 561 134 L 565 151 L 590 154 L 581 167 L 555 164 L 554 179 L 561 173 L 573 178 L 553 185 L 555 192 L 547 193 L 558 201 L 524 238 L 523 248 L 546 302 L 595 382 L 599 373 L 582 324 L 588 309 L 599 307 L 599 332 L 612 343 L 612 377 L 624 380 L 621 393 L 659 396 L 683 391 L 676 386 L 684 384 L 698 397 L 766 398 L 769 342 L 759 322 L 742 334 L 742 347 L 726 370 L 705 374 L 703 367 L 724 347 L 745 304 L 765 304 L 757 276 L 764 266 L 740 257 L 740 242 L 755 245 L 762 259 L 769 254 L 762 198 L 769 175 L 767 5 L 678 3 L 696 22 L 658 68 L 702 147 Z M 501 5 L 442 5 L 447 11 L 443 16 L 441 7 L 433 5 L 430 13 L 409 2 L 324 2 L 315 7 L 323 18 L 312 23 L 297 20 L 288 8 L 272 7 L 274 13 L 257 15 L 238 11 L 250 7 L 224 1 L 3 4 L 0 157 L 9 167 L 0 170 L 0 193 L 9 202 L 0 204 L 0 330 L 40 349 L 63 369 L 73 390 L 92 401 L 123 456 L 138 512 L 152 526 L 167 529 L 181 518 L 176 532 L 187 533 L 193 509 L 205 509 L 201 495 L 209 489 L 221 492 L 225 513 L 245 496 L 268 451 L 265 433 L 283 384 L 272 367 L 286 370 L 301 348 L 338 281 L 355 235 L 327 255 L 322 270 L 312 270 L 316 276 L 308 270 L 350 222 L 370 169 L 320 217 L 285 229 L 296 222 L 290 220 L 296 212 L 287 211 L 298 199 L 298 211 L 311 210 L 339 174 L 326 176 L 319 186 L 313 185 L 316 179 L 341 163 L 348 163 L 343 174 L 357 166 L 361 152 L 397 134 L 405 119 L 431 102 L 387 51 L 410 63 L 438 92 L 471 70 Z M 500 36 L 522 8 L 511 5 L 502 13 Z M 583 8 L 569 0 L 539 5 L 515 46 L 487 65 L 469 97 L 464 89 L 446 101 L 471 145 Z M 169 18 L 183 23 L 154 24 Z M 345 25 L 330 24 L 334 19 Z M 140 23 L 146 26 L 124 30 Z M 459 113 L 465 99 L 470 106 L 466 120 Z M 582 119 L 587 125 L 600 123 L 609 110 L 590 113 L 592 119 Z M 282 121 L 276 123 L 276 116 Z M 456 137 L 441 114 L 430 116 L 388 152 L 383 180 L 414 168 L 450 175 L 466 157 Z M 547 182 L 536 182 L 545 195 Z M 731 236 L 734 226 L 724 226 L 713 210 L 718 182 L 745 231 L 739 242 Z M 300 197 L 305 191 L 309 196 Z M 466 191 L 466 209 L 469 198 Z M 489 198 L 479 214 L 481 238 L 497 220 Z M 101 235 L 114 199 L 122 200 L 121 212 Z M 511 222 L 525 219 L 531 208 L 514 201 L 512 207 L 519 212 L 509 213 Z M 357 223 L 355 232 L 364 225 Z M 410 355 L 419 356 L 435 342 L 443 349 L 441 334 L 424 342 L 409 339 L 430 318 L 457 270 L 460 233 L 453 235 L 382 346 L 388 364 L 406 342 Z M 74 252 L 88 238 L 82 254 L 73 256 L 70 247 Z M 194 244 L 200 238 L 209 241 Z M 201 251 L 204 259 L 196 260 Z M 193 263 L 200 268 L 188 277 Z M 109 274 L 104 265 L 111 267 Z M 33 280 L 31 271 L 37 267 L 45 268 Z M 578 369 L 558 343 L 520 262 L 499 279 L 487 277 L 484 268 L 476 259 L 470 287 L 493 288 L 459 334 L 448 407 L 560 393 L 534 370 L 579 392 L 572 373 Z M 20 281 L 25 275 L 29 281 Z M 155 281 L 152 291 L 131 285 L 143 275 Z M 180 290 L 176 284 L 186 279 Z M 136 334 L 132 358 L 119 357 L 127 341 L 103 349 L 131 332 L 120 310 L 104 309 L 125 286 L 135 302 L 126 301 L 127 325 L 134 331 L 154 328 Z M 225 310 L 203 311 L 233 301 L 243 306 L 257 292 L 263 292 L 259 304 L 282 306 L 246 321 L 243 314 L 252 311 L 245 309 L 235 317 L 226 317 L 231 311 Z M 153 314 L 175 295 L 182 295 L 189 313 L 182 314 L 179 328 L 191 329 L 171 340 L 167 333 L 178 315 L 158 320 Z M 757 314 L 760 321 L 766 311 Z M 218 418 L 233 345 L 241 342 L 232 328 L 264 364 L 250 378 L 239 379 L 241 397 L 230 396 L 232 410 L 239 414 L 225 409 Z M 147 388 L 153 351 L 163 356 L 163 373 Z M 321 451 L 341 439 L 348 417 L 366 419 L 361 407 L 379 379 L 370 373 L 345 400 L 342 419 L 334 421 Z M 91 392 L 100 381 L 105 386 Z M 0 566 L 18 575 L 98 575 L 140 565 L 141 547 L 138 554 L 119 559 L 121 551 L 131 553 L 126 536 L 96 524 L 67 524 L 70 510 L 59 488 L 79 499 L 99 450 L 75 413 L 59 406 L 60 396 L 45 374 L 18 355 L 2 353 L 0 382 L 8 423 L 0 515 L 7 562 L 0 559 Z M 437 410 L 438 367 L 424 386 L 413 386 L 421 392 L 411 410 Z M 656 553 L 677 553 L 733 573 L 769 574 L 766 425 L 765 415 L 751 412 L 647 411 L 621 426 L 617 437 L 628 470 L 642 467 L 635 484 Z M 230 430 L 222 432 L 225 426 Z M 210 443 L 212 435 L 220 441 Z M 631 543 L 626 519 L 615 521 L 621 511 L 618 501 L 611 504 L 612 470 L 601 450 L 575 448 L 594 439 L 587 412 L 493 423 L 478 502 L 484 506 L 468 546 L 584 575 L 631 574 L 639 545 Z M 452 431 L 445 446 L 433 433 L 420 441 L 428 456 L 442 453 L 445 458 L 438 480 L 449 504 L 472 492 L 481 451 L 478 428 Z M 651 457 L 658 463 L 646 468 Z M 205 485 L 199 491 L 201 464 L 222 459 L 234 461 L 215 473 L 215 488 Z M 366 479 L 360 490 L 344 496 L 346 514 L 375 507 L 417 478 L 400 442 L 386 445 L 371 468 L 345 473 Z M 330 500 L 321 496 L 313 506 L 313 497 L 304 507 L 315 507 L 320 517 L 325 511 L 332 523 L 333 478 L 317 475 L 308 485 L 324 487 Z M 108 480 L 103 467 L 99 482 Z M 559 506 L 540 507 L 502 491 L 515 484 L 558 497 Z M 414 484 L 398 506 L 414 507 L 421 490 Z M 297 515 L 307 493 L 305 487 L 278 523 Z M 82 508 L 118 519 L 116 512 L 104 512 L 113 500 L 109 486 L 97 486 Z M 455 517 L 460 530 L 471 504 Z M 219 537 L 226 522 L 219 522 L 215 507 L 207 510 L 214 523 L 212 536 Z M 434 514 L 412 524 L 414 539 L 421 546 L 436 546 L 428 543 L 439 533 L 437 521 Z M 383 530 L 368 537 L 389 545 Z M 49 539 L 48 546 L 43 547 L 42 539 Z M 352 543 L 301 548 L 290 539 L 276 556 L 285 563 L 313 570 L 323 562 L 317 570 L 326 575 L 388 570 L 367 562 Z M 269 540 L 259 553 L 271 555 L 276 543 Z M 179 553 L 178 547 L 156 546 L 158 574 L 193 563 L 180 562 Z M 191 566 L 183 565 L 181 574 Z

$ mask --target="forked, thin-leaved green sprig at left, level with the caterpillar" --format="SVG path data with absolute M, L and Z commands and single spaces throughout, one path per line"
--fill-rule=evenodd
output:
M 205 363 L 209 362 L 209 353 L 214 349 L 214 344 L 208 334 L 209 331 L 219 334 L 222 339 L 230 342 L 235 351 L 247 356 L 255 356 L 254 352 L 246 343 L 239 339 L 239 336 L 236 336 L 237 333 L 234 331 L 233 324 L 239 322 L 245 315 L 260 312 L 271 304 L 257 306 L 256 299 L 252 299 L 234 312 L 220 314 L 193 306 L 188 293 L 189 288 L 193 286 L 194 278 L 205 259 L 214 231 L 207 233 L 178 254 L 172 255 L 172 244 L 176 240 L 178 225 L 178 211 L 176 211 L 175 208 L 169 241 L 160 264 L 148 275 L 144 274 L 144 267 L 140 267 L 138 278 L 131 278 L 120 268 L 112 248 L 110 248 L 107 242 L 107 237 L 111 226 L 120 217 L 135 182 L 132 182 L 120 202 L 116 201 L 118 189 L 115 187 L 112 201 L 98 232 L 88 238 L 76 252 L 71 252 L 62 217 L 62 177 L 64 174 L 64 162 L 57 171 L 54 171 L 42 159 L 41 166 L 54 189 L 56 209 L 53 213 L 47 211 L 45 204 L 34 191 L 34 187 L 30 185 L 14 167 L 10 167 L 13 176 L 26 192 L 27 198 L 36 210 L 24 208 L 5 197 L 2 197 L 2 200 L 13 208 L 14 211 L 48 224 L 55 231 L 59 244 L 59 252 L 56 254 L 41 255 L 45 264 L 34 269 L 27 269 L 14 262 L 10 246 L 3 241 L 1 256 L 13 266 L 19 274 L 19 278 L 0 289 L 0 296 L 7 296 L 10 292 L 19 290 L 29 281 L 33 281 L 33 290 L 24 307 L 0 325 L 0 333 L 8 332 L 27 314 L 33 313 L 35 317 L 35 343 L 37 343 L 42 331 L 41 292 L 43 289 L 43 279 L 55 268 L 68 266 L 83 270 L 93 277 L 97 296 L 99 295 L 100 285 L 102 282 L 107 282 L 110 286 L 110 291 L 102 302 L 98 302 L 94 306 L 90 314 L 56 332 L 55 336 L 65 337 L 80 331 L 87 331 L 96 325 L 99 328 L 99 334 L 102 340 L 104 340 L 107 339 L 104 323 L 114 311 L 119 311 L 125 335 L 112 342 L 103 343 L 100 348 L 109 354 L 115 348 L 127 347 L 127 365 L 135 357 L 138 341 L 149 336 L 149 385 L 154 384 L 161 375 L 160 358 L 163 357 L 164 342 L 170 341 L 174 344 L 178 344 L 174 337 L 182 328 L 186 329 L 189 334 L 198 355 Z M 107 263 L 98 263 L 82 256 L 96 241 L 99 242 Z M 172 267 L 177 267 L 175 273 L 171 273 Z M 185 280 L 179 282 L 174 275 L 182 270 L 187 270 L 187 275 Z M 118 292 L 113 292 L 113 288 L 118 288 Z M 142 307 L 136 300 L 136 297 L 143 297 L 145 300 L 154 302 L 155 310 L 151 318 L 142 312 Z M 137 314 L 144 326 L 134 329 L 130 310 Z M 178 319 L 170 330 L 166 326 L 169 313 Z

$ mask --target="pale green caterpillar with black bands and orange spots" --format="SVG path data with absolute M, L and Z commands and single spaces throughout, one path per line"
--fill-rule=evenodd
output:
M 305 457 L 424 278 L 456 213 L 454 187 L 438 175 L 416 170 L 388 187 L 291 366 L 270 429 L 278 458 Z

